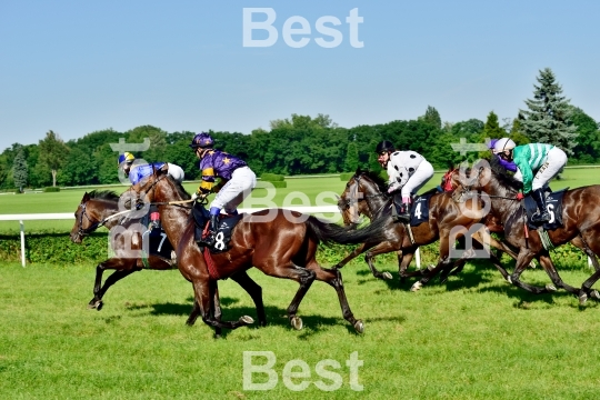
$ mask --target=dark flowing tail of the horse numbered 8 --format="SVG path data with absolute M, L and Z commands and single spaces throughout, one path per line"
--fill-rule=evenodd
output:
M 306 224 L 309 233 L 317 239 L 317 241 L 324 244 L 358 244 L 364 243 L 366 241 L 382 242 L 388 240 L 384 231 L 386 222 L 384 218 L 379 218 L 371 221 L 371 223 L 364 228 L 350 229 L 310 216 L 307 219 Z

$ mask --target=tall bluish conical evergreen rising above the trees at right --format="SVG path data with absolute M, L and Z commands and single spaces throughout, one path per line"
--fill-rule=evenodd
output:
M 572 108 L 562 94 L 550 68 L 540 71 L 534 84 L 533 99 L 526 100 L 528 110 L 519 110 L 521 131 L 531 142 L 551 143 L 568 154 L 577 146 L 577 127 L 571 123 Z

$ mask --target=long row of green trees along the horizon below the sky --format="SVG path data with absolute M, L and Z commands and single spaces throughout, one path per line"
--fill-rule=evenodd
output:
M 451 144 L 461 138 L 468 143 L 483 143 L 487 138 L 506 136 L 518 144 L 559 146 L 569 154 L 569 164 L 600 162 L 600 123 L 562 96 L 550 69 L 541 70 L 537 81 L 533 98 L 526 100 L 527 109 L 502 122 L 491 111 L 486 121 L 442 123 L 439 112 L 429 106 L 414 120 L 372 126 L 342 128 L 326 114 L 292 114 L 272 120 L 269 130 L 256 129 L 250 134 L 209 132 L 216 148 L 241 157 L 258 176 L 339 173 L 359 167 L 377 170 L 380 167 L 373 151 L 381 140 L 392 141 L 398 150 L 421 153 L 438 169 L 486 154 L 454 151 Z M 176 163 L 184 170 L 186 179 L 198 179 L 198 159 L 188 147 L 194 133 L 142 126 L 127 132 L 96 131 L 64 142 L 50 130 L 38 144 L 14 143 L 0 154 L 0 189 L 118 183 L 118 152 L 110 144 L 119 143 L 119 139 L 141 143 L 149 138 L 148 150 L 133 151 L 137 158 Z

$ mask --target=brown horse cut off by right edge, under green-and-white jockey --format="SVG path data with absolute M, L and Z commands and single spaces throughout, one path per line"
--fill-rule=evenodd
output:
M 600 298 L 598 291 L 591 290 L 593 283 L 600 278 L 600 268 L 596 259 L 596 256 L 600 254 L 600 186 L 567 190 L 562 200 L 563 226 L 548 231 L 554 247 L 571 241 L 592 259 L 596 271 L 578 289 L 562 281 L 548 250 L 542 244 L 539 231 L 527 228 L 527 216 L 522 202 L 517 201 L 516 198 L 522 183 L 509 176 L 496 159 L 481 160 L 470 171 L 462 171 L 452 179 L 457 188 L 453 192 L 457 201 L 473 196 L 489 197 L 490 213 L 503 221 L 506 239 L 519 249 L 517 266 L 509 277 L 509 282 L 532 293 L 556 290 L 552 286 L 540 288 L 519 279 L 527 264 L 537 258 L 554 286 L 577 294 L 580 303 L 584 303 L 589 297 Z

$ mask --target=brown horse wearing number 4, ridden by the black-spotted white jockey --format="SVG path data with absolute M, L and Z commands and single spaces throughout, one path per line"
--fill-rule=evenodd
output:
M 472 234 L 474 240 L 473 244 L 474 247 L 478 247 L 479 250 L 481 250 L 481 243 L 489 240 L 490 246 L 507 252 L 513 258 L 517 257 L 517 254 L 504 243 L 497 241 L 487 233 L 482 233 L 481 230 L 474 229 L 479 223 L 480 228 L 486 226 L 492 231 L 498 230 L 494 220 L 484 218 L 486 213 L 479 201 L 473 200 L 467 203 L 466 208 L 452 201 L 451 196 L 446 192 L 437 192 L 431 196 L 429 200 L 429 220 L 418 227 L 411 228 L 414 240 L 414 242 L 412 242 L 410 236 L 407 234 L 407 226 L 394 222 L 391 218 L 392 199 L 386 194 L 386 182 L 377 174 L 360 170 L 358 170 L 348 181 L 346 190 L 338 201 L 338 208 L 342 213 L 344 223 L 356 226 L 358 222 L 357 218 L 360 214 L 366 216 L 371 221 L 383 220 L 386 221 L 384 229 L 390 239 L 382 242 L 368 240 L 340 261 L 336 268 L 343 267 L 350 260 L 364 252 L 364 261 L 369 266 L 372 274 L 376 278 L 389 279 L 391 276 L 389 276 L 388 272 L 381 273 L 374 268 L 373 258 L 378 254 L 397 251 L 401 281 L 408 277 L 424 276 L 412 286 L 411 290 L 416 291 L 431 280 L 440 270 L 442 271 L 441 280 L 444 281 L 452 269 L 457 272 L 462 269 L 467 261 L 466 257 L 471 256 L 471 253 L 466 252 L 463 253 L 463 257 L 452 261 L 450 251 L 454 243 L 453 239 L 459 240 L 462 244 L 464 243 L 466 233 Z M 420 246 L 432 243 L 438 239 L 440 240 L 438 264 L 426 271 L 407 272 L 407 268 L 412 261 L 414 251 Z M 508 272 L 500 264 L 500 260 L 491 252 L 489 253 L 489 257 L 500 273 L 502 273 L 504 278 L 508 278 Z M 389 277 L 387 277 L 386 273 L 388 273 Z

